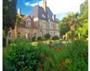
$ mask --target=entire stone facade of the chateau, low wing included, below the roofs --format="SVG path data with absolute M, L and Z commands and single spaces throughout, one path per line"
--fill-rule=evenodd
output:
M 26 20 L 27 22 L 27 20 Z M 24 24 L 24 23 L 23 23 Z M 50 23 L 46 20 L 39 19 L 37 23 L 33 23 L 33 26 L 24 27 L 24 26 L 17 26 L 16 29 L 10 30 L 12 32 L 12 37 L 14 38 L 15 34 L 17 37 L 25 37 L 27 39 L 31 39 L 32 37 L 44 37 L 45 34 L 50 34 L 51 37 L 59 36 L 58 24 L 56 22 L 51 21 Z M 11 37 L 11 38 L 12 38 Z

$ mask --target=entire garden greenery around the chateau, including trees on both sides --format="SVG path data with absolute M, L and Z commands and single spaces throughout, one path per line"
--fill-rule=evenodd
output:
M 7 45 L 9 28 L 20 22 L 15 3 L 3 4 L 3 71 L 88 71 L 88 0 L 80 5 L 80 13 L 69 13 L 58 21 L 59 37 L 19 37 Z

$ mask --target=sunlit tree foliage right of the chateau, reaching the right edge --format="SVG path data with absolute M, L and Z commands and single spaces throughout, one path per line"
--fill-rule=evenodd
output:
M 88 0 L 80 5 L 80 14 L 69 13 L 60 21 L 60 34 L 61 37 L 69 34 L 77 39 L 88 38 Z

